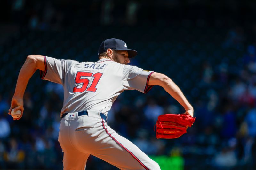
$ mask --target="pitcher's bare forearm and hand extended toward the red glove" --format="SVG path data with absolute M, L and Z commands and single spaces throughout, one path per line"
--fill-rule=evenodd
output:
M 148 85 L 159 85 L 163 87 L 166 92 L 168 92 L 185 108 L 185 113 L 193 117 L 194 109 L 192 105 L 188 102 L 180 88 L 172 81 L 171 78 L 164 74 L 154 72 L 149 78 Z

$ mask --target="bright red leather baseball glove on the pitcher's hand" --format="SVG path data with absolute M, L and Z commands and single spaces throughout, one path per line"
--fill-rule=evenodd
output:
M 164 114 L 159 115 L 156 121 L 156 138 L 174 139 L 187 133 L 196 118 L 187 114 Z M 155 129 L 155 128 L 154 128 Z

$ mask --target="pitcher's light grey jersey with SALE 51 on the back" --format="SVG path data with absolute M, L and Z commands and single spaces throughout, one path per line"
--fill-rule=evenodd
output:
M 40 77 L 64 87 L 61 115 L 96 110 L 107 115 L 117 96 L 124 90 L 147 93 L 153 71 L 124 65 L 109 59 L 93 62 L 58 60 L 44 56 L 45 72 Z M 61 116 L 60 115 L 60 116 Z

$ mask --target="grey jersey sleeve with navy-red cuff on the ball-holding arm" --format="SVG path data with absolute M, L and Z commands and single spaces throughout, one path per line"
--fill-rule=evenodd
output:
M 40 70 L 40 78 L 58 84 L 64 84 L 65 75 L 72 65 L 73 60 L 59 60 L 44 56 L 45 71 Z

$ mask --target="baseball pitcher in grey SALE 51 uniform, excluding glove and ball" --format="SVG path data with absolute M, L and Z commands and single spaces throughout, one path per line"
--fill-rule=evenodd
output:
M 85 169 L 89 155 L 96 156 L 124 170 L 159 170 L 132 142 L 117 134 L 107 124 L 107 115 L 113 102 L 124 90 L 147 93 L 160 85 L 193 116 L 179 87 L 164 74 L 144 71 L 127 65 L 137 55 L 119 39 L 107 39 L 100 45 L 97 62 L 58 60 L 48 56 L 29 55 L 22 66 L 11 107 L 23 114 L 23 94 L 29 78 L 37 69 L 40 77 L 63 85 L 64 103 L 60 117 L 58 141 L 64 152 L 64 169 Z

